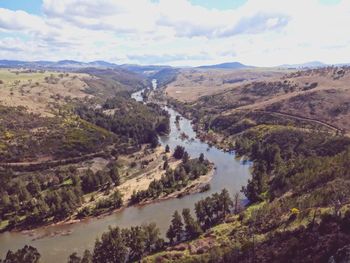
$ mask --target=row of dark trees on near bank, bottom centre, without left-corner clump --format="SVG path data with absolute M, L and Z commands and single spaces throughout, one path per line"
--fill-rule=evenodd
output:
M 213 226 L 224 220 L 226 212 L 232 208 L 232 200 L 227 190 L 223 190 L 220 194 L 214 194 L 208 198 L 201 202 L 204 202 L 206 207 L 210 207 L 211 212 L 217 216 L 217 220 L 211 222 Z M 184 223 L 182 222 L 182 218 Z M 139 261 L 143 257 L 156 253 L 168 245 L 173 244 L 174 239 L 179 243 L 200 236 L 203 233 L 200 224 L 201 221 L 198 215 L 197 220 L 195 220 L 189 209 L 183 209 L 182 217 L 178 211 L 175 211 L 167 232 L 170 243 L 160 238 L 160 231 L 154 223 L 131 227 L 129 229 L 120 229 L 119 227 L 109 228 L 108 232 L 102 234 L 101 239 L 96 240 L 93 253 L 87 250 L 84 252 L 83 258 L 88 257 L 88 262 L 93 263 Z M 68 262 L 80 263 L 83 261 L 76 253 L 73 253 L 70 255 Z

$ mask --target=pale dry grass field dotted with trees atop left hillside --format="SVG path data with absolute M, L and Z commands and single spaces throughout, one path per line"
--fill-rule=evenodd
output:
M 53 105 L 90 96 L 84 90 L 87 74 L 0 69 L 0 103 L 24 106 L 29 112 L 52 116 Z

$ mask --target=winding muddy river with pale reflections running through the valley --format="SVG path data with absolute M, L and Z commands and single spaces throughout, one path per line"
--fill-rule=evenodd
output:
M 155 80 L 153 87 L 156 88 Z M 141 92 L 134 93 L 132 97 L 142 101 Z M 67 262 L 72 252 L 81 254 L 84 249 L 92 248 L 96 238 L 101 236 L 108 226 L 130 227 L 155 222 L 162 234 L 165 234 L 175 210 L 193 208 L 195 202 L 223 188 L 229 190 L 231 195 L 239 192 L 250 178 L 249 164 L 236 160 L 233 153 L 209 147 L 205 142 L 201 142 L 196 138 L 196 133 L 188 119 L 182 117 L 179 125 L 176 125 L 176 115 L 180 114 L 171 108 L 165 107 L 165 109 L 170 114 L 171 132 L 167 136 L 160 137 L 161 144 L 163 146 L 168 144 L 170 149 L 174 149 L 176 145 L 182 145 L 191 157 L 204 153 L 216 167 L 209 191 L 159 201 L 142 207 L 128 207 L 102 218 L 86 219 L 70 225 L 48 226 L 29 233 L 5 232 L 0 234 L 0 258 L 3 258 L 9 249 L 16 250 L 28 244 L 39 250 L 42 262 Z M 180 138 L 182 132 L 189 136 L 188 140 Z

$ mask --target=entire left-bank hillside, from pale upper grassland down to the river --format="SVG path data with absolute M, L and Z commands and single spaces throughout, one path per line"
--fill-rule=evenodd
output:
M 0 231 L 127 204 L 119 184 L 163 162 L 153 156 L 168 115 L 130 97 L 148 85 L 140 74 L 120 68 L 0 69 Z M 144 151 L 153 159 L 145 160 Z M 130 183 L 123 193 L 130 198 L 154 176 Z

